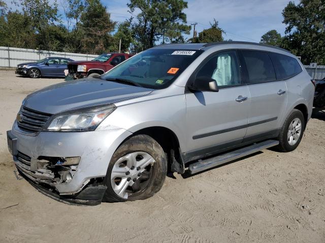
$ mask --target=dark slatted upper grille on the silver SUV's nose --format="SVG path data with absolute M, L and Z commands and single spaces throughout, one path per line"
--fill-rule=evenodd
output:
M 20 118 L 17 117 L 17 125 L 20 129 L 36 133 L 41 131 L 51 114 L 21 107 Z M 19 115 L 19 114 L 18 114 Z

